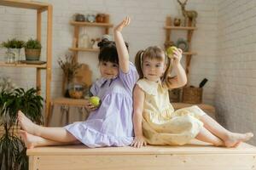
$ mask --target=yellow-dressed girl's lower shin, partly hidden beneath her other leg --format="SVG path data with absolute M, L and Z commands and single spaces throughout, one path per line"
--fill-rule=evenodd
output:
M 219 139 L 218 137 L 213 135 L 205 127 L 201 128 L 200 133 L 197 134 L 195 139 L 199 139 L 199 140 L 201 140 L 203 142 L 214 144 L 216 146 L 224 145 L 224 142 L 221 139 Z

